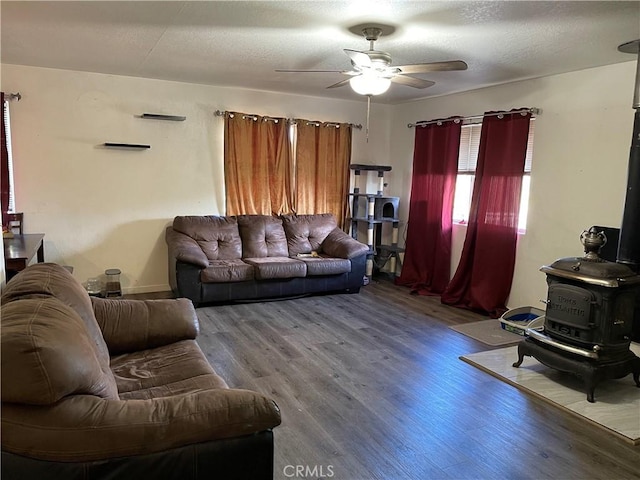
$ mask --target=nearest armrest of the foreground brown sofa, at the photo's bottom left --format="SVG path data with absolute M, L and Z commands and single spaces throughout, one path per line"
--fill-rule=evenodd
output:
M 149 400 L 74 395 L 47 405 L 2 405 L 2 449 L 58 462 L 106 460 L 251 435 L 280 424 L 257 392 L 203 390 Z

